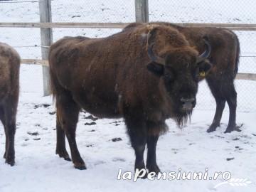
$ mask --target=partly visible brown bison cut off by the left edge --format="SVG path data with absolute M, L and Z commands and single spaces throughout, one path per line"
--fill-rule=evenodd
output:
M 0 43 L 0 119 L 6 134 L 6 163 L 14 165 L 14 135 L 19 93 L 20 57 L 14 48 Z

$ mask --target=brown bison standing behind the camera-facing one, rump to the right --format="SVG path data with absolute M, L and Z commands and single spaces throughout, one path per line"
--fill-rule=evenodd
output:
M 240 55 L 240 45 L 238 37 L 232 31 L 226 28 L 198 28 L 198 27 L 181 27 L 172 23 L 155 22 L 159 25 L 170 26 L 176 28 L 186 40 L 199 52 L 204 49 L 203 36 L 207 36 L 212 48 L 210 52 L 210 63 L 213 68 L 206 75 L 206 81 L 210 87 L 210 91 L 215 97 L 216 111 L 212 124 L 207 132 L 213 132 L 220 126 L 220 119 L 223 114 L 225 102 L 228 102 L 230 109 L 230 118 L 225 133 L 234 130 L 240 131 L 235 123 L 235 114 L 237 107 L 237 92 L 235 91 L 234 80 L 238 73 L 238 63 Z M 132 30 L 137 26 L 145 25 L 145 23 L 132 23 L 124 28 Z M 136 29 L 135 29 L 136 30 Z M 201 73 L 202 78 L 205 76 Z

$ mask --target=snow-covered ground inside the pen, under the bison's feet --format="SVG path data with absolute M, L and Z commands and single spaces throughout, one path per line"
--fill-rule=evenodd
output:
M 157 157 L 161 171 L 230 171 L 233 178 L 248 178 L 249 186 L 233 187 L 217 181 L 118 181 L 118 170 L 133 171 L 134 151 L 129 144 L 122 119 L 99 119 L 95 125 L 89 114 L 81 113 L 77 140 L 87 170 L 79 171 L 73 164 L 55 155 L 55 114 L 50 97 L 34 97 L 23 93 L 18 108 L 16 132 L 16 166 L 0 159 L 0 191 L 255 191 L 255 116 L 238 113 L 244 123 L 242 132 L 223 134 L 228 114 L 216 132 L 206 133 L 213 111 L 196 110 L 191 124 L 180 130 L 171 120 L 169 132 L 160 137 Z M 34 95 L 38 96 L 38 95 Z M 48 105 L 49 107 L 47 107 Z M 119 122 L 120 121 L 120 122 Z M 35 133 L 33 136 L 28 133 Z M 112 142 L 121 138 L 119 142 Z M 0 154 L 4 154 L 4 132 L 0 131 Z M 38 140 L 39 139 L 39 140 Z M 69 149 L 69 148 L 68 148 Z M 227 158 L 235 158 L 227 161 Z M 193 190 L 191 190 L 193 188 Z

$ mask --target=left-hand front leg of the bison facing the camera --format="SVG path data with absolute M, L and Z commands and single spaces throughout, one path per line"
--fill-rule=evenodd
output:
M 127 117 L 125 118 L 125 122 L 136 156 L 134 169 L 135 171 L 141 171 L 142 169 L 146 170 L 144 164 L 144 150 L 147 137 L 146 123 L 143 119 L 139 119 L 138 117 Z M 144 177 L 146 177 L 146 175 L 144 175 Z

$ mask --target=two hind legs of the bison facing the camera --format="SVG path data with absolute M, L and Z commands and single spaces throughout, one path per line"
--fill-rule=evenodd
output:
M 78 123 L 80 107 L 73 100 L 71 93 L 67 90 L 58 90 L 55 93 L 57 108 L 57 147 L 56 153 L 60 157 L 69 160 L 68 152 L 65 149 L 65 135 L 70 145 L 71 157 L 76 169 L 86 169 L 75 140 L 75 130 Z M 64 134 L 65 132 L 65 134 Z

